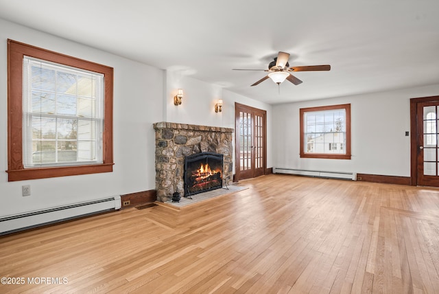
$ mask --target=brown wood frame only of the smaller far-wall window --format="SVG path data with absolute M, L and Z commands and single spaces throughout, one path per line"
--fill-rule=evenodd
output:
M 327 111 L 335 109 L 344 109 L 346 111 L 346 146 L 345 154 L 330 154 L 330 153 L 307 153 L 304 150 L 305 122 L 304 114 L 313 111 Z M 322 159 L 351 159 L 351 104 L 337 104 L 331 106 L 316 106 L 300 109 L 300 158 L 322 158 Z

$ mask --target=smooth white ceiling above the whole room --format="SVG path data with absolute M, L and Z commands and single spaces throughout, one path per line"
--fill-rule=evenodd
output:
M 0 0 L 0 17 L 270 104 L 439 83 L 438 0 Z M 331 71 L 278 89 L 232 70 L 279 51 Z

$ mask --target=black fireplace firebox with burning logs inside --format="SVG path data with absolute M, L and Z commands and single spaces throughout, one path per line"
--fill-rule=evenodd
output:
M 185 157 L 185 197 L 222 188 L 223 157 L 213 152 Z

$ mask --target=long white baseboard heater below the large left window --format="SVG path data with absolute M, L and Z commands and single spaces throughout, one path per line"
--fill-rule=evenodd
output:
M 0 218 L 0 236 L 73 218 L 119 210 L 120 208 L 121 196 L 117 195 L 105 199 L 72 203 L 45 210 L 4 216 Z

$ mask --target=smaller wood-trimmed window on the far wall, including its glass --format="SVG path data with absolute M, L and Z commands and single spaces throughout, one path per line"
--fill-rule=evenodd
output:
M 300 157 L 351 159 L 351 104 L 300 109 Z

